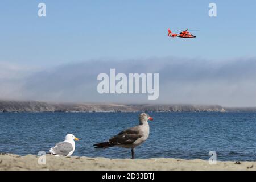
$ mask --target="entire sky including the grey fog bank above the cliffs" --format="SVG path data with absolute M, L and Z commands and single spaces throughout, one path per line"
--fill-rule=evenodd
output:
M 46 18 L 38 4 L 46 3 Z M 217 4 L 217 17 L 208 15 Z M 0 99 L 256 106 L 256 1 L 0 1 Z M 195 39 L 169 38 L 189 28 Z M 97 75 L 159 73 L 159 99 Z

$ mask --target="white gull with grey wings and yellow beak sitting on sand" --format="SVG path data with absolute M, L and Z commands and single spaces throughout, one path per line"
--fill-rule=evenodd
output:
M 74 140 L 78 141 L 79 139 L 76 138 L 73 134 L 67 134 L 65 141 L 57 143 L 56 146 L 49 150 L 49 152 L 56 156 L 71 156 L 75 151 Z

